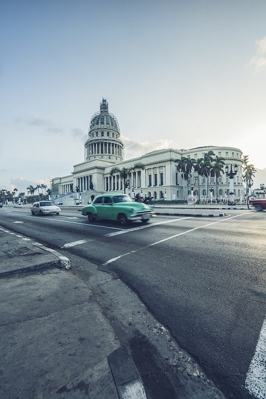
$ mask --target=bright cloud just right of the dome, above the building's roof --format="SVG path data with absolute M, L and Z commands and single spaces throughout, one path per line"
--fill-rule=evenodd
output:
M 156 140 L 155 142 L 150 143 L 148 141 L 134 142 L 133 140 L 125 136 L 122 136 L 121 138 L 125 145 L 127 158 L 135 158 L 151 151 L 175 147 L 173 140 Z

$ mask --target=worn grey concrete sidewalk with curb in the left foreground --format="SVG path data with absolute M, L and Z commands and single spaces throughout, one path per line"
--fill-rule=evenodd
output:
M 92 290 L 17 235 L 0 230 L 0 398 L 145 399 Z

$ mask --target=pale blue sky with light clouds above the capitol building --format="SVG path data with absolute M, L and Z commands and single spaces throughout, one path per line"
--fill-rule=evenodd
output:
M 1 0 L 0 189 L 69 175 L 103 97 L 126 159 L 231 146 L 266 180 L 265 21 L 264 0 Z

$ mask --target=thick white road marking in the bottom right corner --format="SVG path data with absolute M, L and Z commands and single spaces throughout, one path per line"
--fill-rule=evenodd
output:
M 266 398 L 266 318 L 263 322 L 261 333 L 252 358 L 245 387 L 255 398 Z

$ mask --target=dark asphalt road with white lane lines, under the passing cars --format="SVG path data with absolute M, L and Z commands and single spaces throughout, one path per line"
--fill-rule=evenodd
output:
M 246 375 L 265 319 L 266 212 L 157 216 L 120 227 L 80 212 L 0 208 L 0 224 L 115 271 L 227 398 L 253 398 Z M 18 223 L 19 222 L 19 223 Z M 260 398 L 260 396 L 258 396 Z

